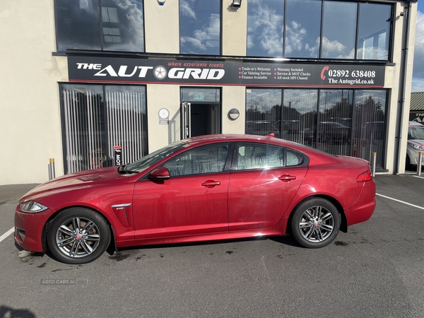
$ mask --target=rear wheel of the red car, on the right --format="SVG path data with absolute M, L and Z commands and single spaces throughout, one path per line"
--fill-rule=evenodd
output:
M 291 234 L 302 247 L 317 249 L 329 245 L 340 229 L 340 214 L 334 204 L 322 198 L 307 199 L 291 219 Z

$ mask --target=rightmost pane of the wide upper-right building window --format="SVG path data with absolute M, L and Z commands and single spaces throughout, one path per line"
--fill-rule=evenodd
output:
M 389 59 L 391 6 L 359 4 L 357 59 Z

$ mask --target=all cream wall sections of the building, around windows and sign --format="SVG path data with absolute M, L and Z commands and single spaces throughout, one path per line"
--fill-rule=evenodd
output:
M 232 0 L 223 0 L 223 54 L 246 52 L 247 5 L 237 11 Z M 179 53 L 179 1 L 144 1 L 146 52 Z M 394 66 L 386 67 L 385 88 L 391 91 L 388 106 L 386 165 L 394 172 L 394 139 L 398 116 L 399 75 L 406 16 L 400 17 L 405 2 L 396 4 Z M 413 66 L 416 6 L 411 11 L 411 37 L 407 64 L 404 129 L 408 122 Z M 54 57 L 53 0 L 1 1 L 0 5 L 0 184 L 39 183 L 48 179 L 49 158 L 54 158 L 56 175 L 63 175 L 61 120 L 58 82 L 68 81 L 66 57 Z M 179 86 L 147 86 L 149 151 L 179 139 Z M 158 124 L 158 110 L 170 110 L 170 125 Z M 228 119 L 231 108 L 240 118 Z M 223 133 L 245 131 L 245 87 L 222 87 Z M 402 139 L 401 172 L 404 169 L 406 137 Z

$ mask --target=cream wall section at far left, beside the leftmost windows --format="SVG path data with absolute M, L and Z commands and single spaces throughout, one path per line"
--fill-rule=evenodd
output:
M 46 181 L 49 158 L 63 175 L 57 82 L 68 71 L 54 36 L 52 0 L 1 1 L 0 184 Z

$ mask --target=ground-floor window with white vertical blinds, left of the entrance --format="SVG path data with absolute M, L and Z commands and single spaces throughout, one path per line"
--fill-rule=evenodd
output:
M 64 171 L 114 165 L 114 146 L 122 163 L 148 153 L 146 88 L 61 84 Z

